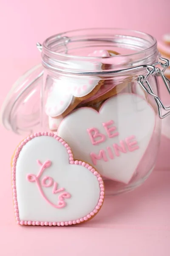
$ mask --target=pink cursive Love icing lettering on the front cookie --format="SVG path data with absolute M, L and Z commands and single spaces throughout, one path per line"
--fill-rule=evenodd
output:
M 62 191 L 65 190 L 65 188 L 57 189 L 57 186 L 58 186 L 57 182 L 55 182 L 53 180 L 53 178 L 48 177 L 48 176 L 43 177 L 43 179 L 41 181 L 41 184 L 40 184 L 40 177 L 41 177 L 42 173 L 44 172 L 44 170 L 51 166 L 51 161 L 47 160 L 42 164 L 40 162 L 40 160 L 37 160 L 37 163 L 41 166 L 40 171 L 38 172 L 37 176 L 32 174 L 32 173 L 27 174 L 27 176 L 26 176 L 27 180 L 29 182 L 36 182 L 37 183 L 37 187 L 40 191 L 40 194 L 45 199 L 45 201 L 47 201 L 48 204 L 50 204 L 52 207 L 55 207 L 55 208 L 58 208 L 58 209 L 65 207 L 66 203 L 65 203 L 64 199 L 65 198 L 71 198 L 71 195 L 68 192 L 62 192 Z M 48 200 L 48 198 L 45 196 L 45 194 L 42 190 L 41 185 L 43 187 L 46 187 L 46 188 L 48 188 L 50 186 L 53 186 L 53 190 L 52 190 L 53 194 L 57 194 L 59 192 L 62 192 L 58 196 L 58 204 L 53 204 L 51 201 Z

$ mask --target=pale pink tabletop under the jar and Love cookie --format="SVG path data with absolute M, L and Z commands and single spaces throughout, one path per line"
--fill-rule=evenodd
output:
M 9 63 L 3 60 L 4 66 Z M 11 76 L 3 67 L 0 105 L 11 84 L 35 64 L 11 61 Z M 1 66 L 2 68 L 2 66 Z M 8 80 L 6 80 L 8 77 Z M 10 146 L 6 143 L 6 138 Z M 170 249 L 170 140 L 161 138 L 156 170 L 135 191 L 108 197 L 99 214 L 76 227 L 18 227 L 11 189 L 11 156 L 22 137 L 0 126 L 0 248 L 2 256 L 169 256 Z M 68 239 L 65 241 L 65 237 Z M 113 251 L 112 251 L 113 250 Z

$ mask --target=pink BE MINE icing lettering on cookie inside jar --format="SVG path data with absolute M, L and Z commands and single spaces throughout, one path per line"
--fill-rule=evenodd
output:
M 116 127 L 111 126 L 113 125 L 113 123 L 114 123 L 113 120 L 102 123 L 103 127 L 105 128 L 106 134 L 109 138 L 113 138 L 119 135 L 119 132 L 116 132 Z M 87 132 L 89 134 L 91 143 L 93 145 L 97 145 L 106 140 L 105 134 L 100 133 L 99 129 L 97 128 L 89 128 L 87 129 Z M 114 159 L 115 156 L 119 157 L 120 152 L 127 153 L 128 151 L 132 152 L 137 149 L 139 149 L 139 145 L 135 140 L 135 136 L 132 135 L 130 137 L 125 138 L 125 141 L 121 140 L 119 142 L 119 145 L 116 143 L 113 143 L 113 145 L 108 146 L 106 150 L 105 149 L 99 150 L 98 154 L 91 152 L 90 156 L 93 164 L 96 165 L 97 160 L 103 159 L 105 162 L 108 162 L 109 159 Z

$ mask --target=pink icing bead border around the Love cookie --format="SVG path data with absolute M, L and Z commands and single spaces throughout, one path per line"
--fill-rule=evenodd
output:
M 99 182 L 99 186 L 100 186 L 100 197 L 99 197 L 98 204 L 96 205 L 94 210 L 92 212 L 90 212 L 88 215 L 86 215 L 82 218 L 79 218 L 77 220 L 62 221 L 62 222 L 22 221 L 22 220 L 20 220 L 18 202 L 17 202 L 16 182 L 15 182 L 15 180 L 16 180 L 15 174 L 16 174 L 17 158 L 20 154 L 21 149 L 23 148 L 24 145 L 26 145 L 26 143 L 28 141 L 34 139 L 35 137 L 40 137 L 40 136 L 54 137 L 56 140 L 58 140 L 60 143 L 62 143 L 62 145 L 64 145 L 65 148 L 67 149 L 70 164 L 82 165 L 85 168 L 87 168 L 89 171 L 91 171 L 96 176 L 96 178 Z M 83 161 L 74 160 L 70 146 L 64 140 L 62 140 L 62 138 L 60 138 L 59 136 L 57 136 L 56 134 L 51 133 L 51 132 L 38 132 L 38 133 L 31 134 L 25 140 L 23 140 L 15 151 L 15 154 L 14 154 L 14 157 L 13 157 L 13 160 L 12 160 L 12 192 L 13 192 L 13 200 L 14 200 L 15 219 L 16 219 L 17 224 L 19 224 L 21 226 L 23 226 L 23 225 L 28 225 L 28 226 L 31 226 L 31 225 L 32 226 L 68 226 L 68 225 L 79 224 L 79 223 L 82 223 L 83 221 L 87 221 L 88 219 L 90 219 L 94 215 L 96 215 L 97 212 L 99 212 L 99 209 L 102 207 L 102 204 L 103 204 L 103 201 L 104 201 L 105 187 L 104 187 L 102 177 L 92 166 L 90 166 L 88 163 L 85 163 Z

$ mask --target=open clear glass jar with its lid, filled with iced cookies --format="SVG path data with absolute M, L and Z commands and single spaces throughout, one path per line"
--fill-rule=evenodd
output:
M 127 29 L 46 39 L 38 44 L 43 67 L 17 81 L 3 105 L 3 124 L 18 134 L 51 130 L 62 137 L 75 159 L 104 177 L 108 195 L 134 189 L 152 172 L 159 150 L 156 46 L 152 36 Z

